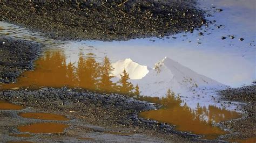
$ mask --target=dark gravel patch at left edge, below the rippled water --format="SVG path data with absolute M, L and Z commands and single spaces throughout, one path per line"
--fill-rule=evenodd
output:
M 35 42 L 0 37 L 0 83 L 16 82 L 23 71 L 33 69 L 41 47 Z

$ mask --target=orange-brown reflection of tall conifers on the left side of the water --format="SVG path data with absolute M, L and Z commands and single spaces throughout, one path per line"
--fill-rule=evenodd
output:
M 62 51 L 48 51 L 43 58 L 36 61 L 36 65 L 34 71 L 25 71 L 18 78 L 17 83 L 2 84 L 2 88 L 68 86 L 99 92 L 133 94 L 133 85 L 128 81 L 129 74 L 125 70 L 117 83 L 112 82 L 113 68 L 106 56 L 104 62 L 99 63 L 95 60 L 94 54 L 89 53 L 84 56 L 80 53 L 77 67 L 75 67 L 75 63 L 66 64 L 66 57 Z

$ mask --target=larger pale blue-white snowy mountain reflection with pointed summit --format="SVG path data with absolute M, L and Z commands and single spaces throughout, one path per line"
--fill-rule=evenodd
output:
M 163 97 L 170 88 L 192 109 L 197 108 L 197 103 L 200 106 L 225 106 L 224 102 L 218 102 L 215 91 L 227 88 L 226 85 L 200 75 L 167 57 L 157 62 L 141 80 L 132 80 L 132 83 L 139 85 L 141 95 L 152 97 Z

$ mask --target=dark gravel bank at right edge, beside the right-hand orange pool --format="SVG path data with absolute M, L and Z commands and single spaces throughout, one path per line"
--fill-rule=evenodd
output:
M 242 109 L 247 113 L 247 116 L 243 118 L 221 123 L 225 128 L 229 128 L 233 132 L 233 134 L 228 135 L 228 138 L 245 139 L 256 137 L 256 85 L 230 88 L 220 91 L 220 95 L 228 101 L 245 103 Z

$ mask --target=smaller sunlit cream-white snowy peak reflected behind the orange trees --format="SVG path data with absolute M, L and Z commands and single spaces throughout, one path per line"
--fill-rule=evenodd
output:
M 132 61 L 130 58 L 112 63 L 112 66 L 114 68 L 112 73 L 118 78 L 121 78 L 120 74 L 123 74 L 124 69 L 129 74 L 131 80 L 141 79 L 147 73 L 149 73 L 147 66 L 139 65 L 138 63 Z

